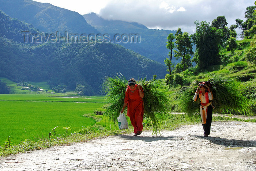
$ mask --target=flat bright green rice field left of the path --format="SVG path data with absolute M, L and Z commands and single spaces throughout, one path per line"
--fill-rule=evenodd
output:
M 58 126 L 57 134 L 68 134 L 95 120 L 83 117 L 102 107 L 103 96 L 68 96 L 63 94 L 8 94 L 0 95 L 0 145 L 10 136 L 13 144 L 21 141 L 48 138 Z

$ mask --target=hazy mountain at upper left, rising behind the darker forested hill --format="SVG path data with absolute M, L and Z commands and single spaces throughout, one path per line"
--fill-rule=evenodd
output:
M 0 10 L 11 18 L 17 18 L 45 33 L 59 31 L 77 34 L 98 33 L 78 12 L 59 8 L 49 3 L 32 0 L 0 0 Z

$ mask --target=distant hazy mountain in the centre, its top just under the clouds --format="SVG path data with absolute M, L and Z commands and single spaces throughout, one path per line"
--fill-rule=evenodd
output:
M 121 20 L 106 20 L 99 17 L 95 13 L 83 15 L 86 21 L 95 27 L 102 34 L 109 34 L 112 40 L 116 34 L 118 35 L 139 35 L 140 42 L 130 43 L 126 41 L 117 42 L 127 49 L 134 50 L 152 60 L 164 64 L 164 60 L 168 57 L 169 50 L 166 48 L 167 36 L 170 33 L 175 34 L 176 31 L 149 29 L 143 24 L 135 22 L 124 22 Z M 175 60 L 175 59 L 174 59 Z

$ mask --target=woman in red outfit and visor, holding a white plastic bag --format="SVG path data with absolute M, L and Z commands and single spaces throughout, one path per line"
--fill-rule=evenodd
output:
M 143 130 L 143 98 L 144 92 L 140 84 L 136 84 L 135 79 L 128 80 L 128 86 L 125 91 L 124 105 L 120 113 L 124 112 L 125 107 L 127 106 L 127 116 L 130 118 L 132 126 L 134 128 L 134 135 L 138 136 L 142 133 Z

